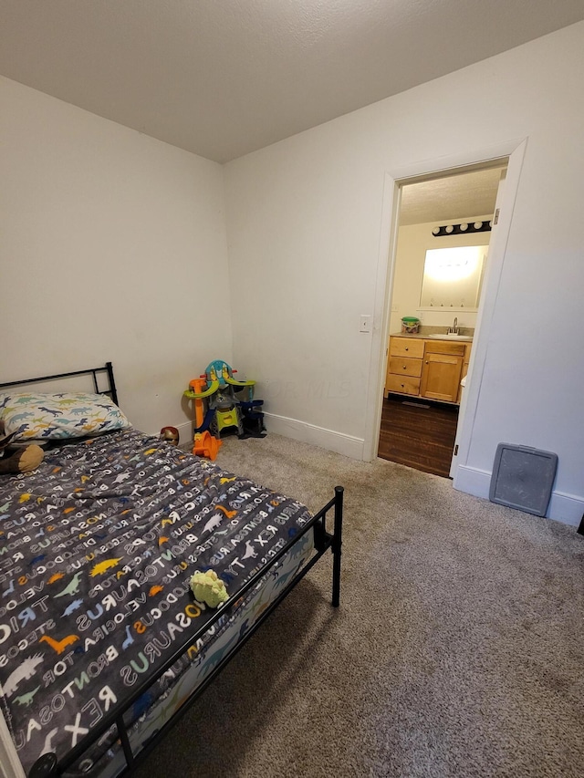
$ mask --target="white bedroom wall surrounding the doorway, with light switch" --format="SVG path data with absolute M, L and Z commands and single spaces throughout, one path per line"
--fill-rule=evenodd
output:
M 466 465 L 499 441 L 559 456 L 551 514 L 584 500 L 584 23 L 226 166 L 235 362 L 272 429 L 357 454 L 366 430 L 384 177 L 527 138 Z M 387 219 L 385 220 L 387 223 Z M 478 489 L 480 492 L 481 489 Z M 563 502 L 562 502 L 563 501 Z M 561 504 L 560 504 L 561 503 Z

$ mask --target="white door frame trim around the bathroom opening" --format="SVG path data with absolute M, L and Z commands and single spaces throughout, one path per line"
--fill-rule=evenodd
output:
M 479 309 L 474 329 L 473 350 L 468 367 L 468 389 L 465 389 L 464 415 L 459 421 L 460 442 L 458 451 L 458 472 L 464 467 L 474 428 L 474 417 L 478 406 L 481 381 L 485 370 L 488 333 L 495 311 L 499 282 L 505 260 L 506 244 L 511 226 L 519 175 L 527 147 L 527 138 L 506 140 L 486 149 L 462 151 L 435 160 L 412 162 L 402 168 L 387 171 L 383 185 L 380 250 L 378 254 L 373 303 L 373 332 L 370 351 L 370 374 L 365 411 L 365 438 L 363 460 L 371 462 L 377 457 L 383 408 L 383 386 L 387 364 L 386 348 L 390 327 L 391 292 L 395 270 L 397 232 L 399 227 L 399 206 L 401 182 L 408 179 L 439 178 L 457 168 L 508 158 L 505 191 L 501 201 L 501 212 L 497 230 L 489 243 L 489 261 L 486 266 L 484 300 Z M 454 481 L 456 487 L 456 480 Z

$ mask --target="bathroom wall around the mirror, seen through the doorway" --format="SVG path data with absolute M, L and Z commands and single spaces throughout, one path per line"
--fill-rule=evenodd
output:
M 488 222 L 492 216 L 492 213 L 466 213 L 464 216 L 450 219 L 449 223 Z M 406 224 L 398 231 L 391 296 L 391 333 L 400 332 L 401 316 L 417 316 L 422 325 L 427 327 L 450 327 L 454 316 L 458 318 L 459 327 L 476 325 L 475 311 L 457 310 L 453 313 L 448 308 L 432 311 L 420 309 L 423 268 L 428 249 L 488 245 L 491 233 L 443 235 L 435 238 L 432 231 L 436 226 L 440 226 L 440 223 Z

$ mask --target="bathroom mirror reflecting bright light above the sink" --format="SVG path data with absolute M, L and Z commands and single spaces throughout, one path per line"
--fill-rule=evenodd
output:
M 476 311 L 488 245 L 428 249 L 420 308 Z

